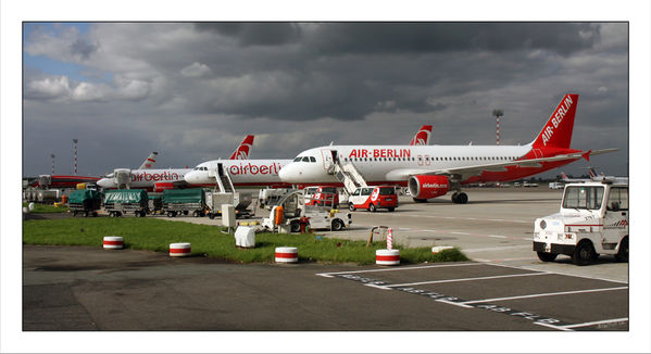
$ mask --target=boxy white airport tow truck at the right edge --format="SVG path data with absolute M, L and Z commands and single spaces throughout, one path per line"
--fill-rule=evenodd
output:
M 628 262 L 628 184 L 566 185 L 561 211 L 534 224 L 534 251 L 542 262 L 559 254 L 576 265 L 590 264 L 599 254 Z

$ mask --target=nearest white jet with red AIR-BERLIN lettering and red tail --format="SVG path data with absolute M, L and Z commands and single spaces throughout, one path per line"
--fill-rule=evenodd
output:
M 455 191 L 452 201 L 467 203 L 461 186 L 517 180 L 590 155 L 612 152 L 569 148 L 578 94 L 565 94 L 536 139 L 526 146 L 329 146 L 301 152 L 280 169 L 288 184 L 341 185 L 336 164 L 352 164 L 367 185 L 408 186 L 416 202 Z

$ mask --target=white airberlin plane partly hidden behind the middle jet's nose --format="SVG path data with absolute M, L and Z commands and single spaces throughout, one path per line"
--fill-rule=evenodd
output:
M 245 140 L 242 140 L 237 149 L 235 149 L 230 155 L 230 159 L 247 159 L 252 144 L 253 136 L 249 135 L 245 138 Z M 158 152 L 152 154 L 158 154 Z M 130 174 L 129 188 L 147 189 L 154 192 L 161 192 L 165 189 L 174 189 L 187 186 L 184 177 L 187 173 L 192 170 L 192 168 L 138 168 L 132 170 L 127 168 L 118 169 L 128 172 Z M 117 184 L 113 178 L 114 176 L 114 173 L 109 174 L 104 178 L 98 180 L 97 185 L 102 188 L 117 188 Z

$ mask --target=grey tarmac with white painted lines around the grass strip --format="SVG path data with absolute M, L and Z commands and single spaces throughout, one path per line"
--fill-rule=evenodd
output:
M 242 265 L 148 251 L 25 245 L 23 330 L 628 330 L 627 263 L 612 256 L 585 267 L 565 256 L 543 263 L 531 250 L 534 220 L 558 212 L 561 191 L 466 192 L 464 205 L 401 197 L 393 213 L 356 211 L 345 230 L 317 233 L 367 240 L 372 227 L 384 225 L 392 228 L 399 249 L 452 245 L 472 262 Z

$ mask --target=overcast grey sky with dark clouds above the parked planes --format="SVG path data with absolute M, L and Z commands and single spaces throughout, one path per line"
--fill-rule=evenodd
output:
M 575 162 L 626 175 L 627 23 L 24 23 L 23 175 L 252 159 L 328 144 L 530 142 L 578 93 Z

